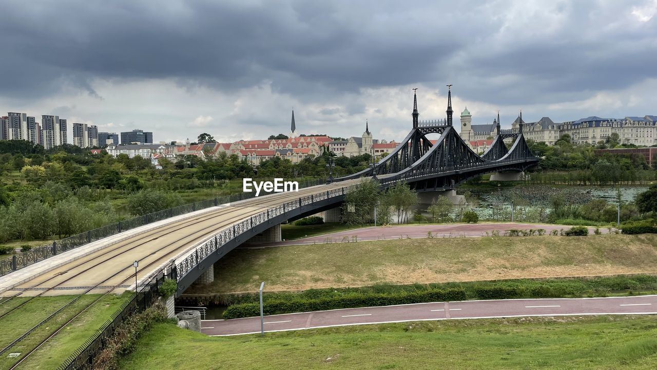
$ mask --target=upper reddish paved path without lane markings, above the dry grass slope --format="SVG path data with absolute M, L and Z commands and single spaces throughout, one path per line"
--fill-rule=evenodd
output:
M 481 223 L 481 224 L 452 224 L 452 225 L 395 225 L 392 227 L 372 226 L 357 228 L 340 232 L 333 232 L 319 236 L 297 240 L 285 240 L 283 242 L 258 244 L 258 246 L 244 245 L 240 248 L 267 248 L 279 246 L 297 246 L 303 244 L 323 244 L 339 242 L 355 242 L 365 240 L 390 240 L 405 238 L 426 238 L 427 233 L 431 232 L 434 238 L 461 238 L 461 237 L 480 237 L 492 235 L 497 230 L 500 235 L 505 230 L 534 230 L 542 228 L 547 233 L 552 230 L 567 230 L 572 226 L 562 225 L 544 225 L 544 224 L 526 224 L 526 223 Z M 589 228 L 589 234 L 593 234 L 595 228 Z M 488 232 L 488 234 L 486 234 Z M 606 234 L 608 229 L 600 228 L 600 232 Z

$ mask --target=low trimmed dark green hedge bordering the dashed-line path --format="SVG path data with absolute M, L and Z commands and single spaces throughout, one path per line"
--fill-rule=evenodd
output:
M 319 299 L 292 299 L 265 301 L 265 315 L 306 311 L 325 311 L 327 309 L 373 307 L 378 305 L 419 304 L 424 302 L 463 301 L 466 299 L 463 289 L 431 289 L 417 292 L 399 292 L 396 294 L 346 294 L 341 297 Z M 260 315 L 260 304 L 235 304 L 223 311 L 226 319 L 252 317 Z

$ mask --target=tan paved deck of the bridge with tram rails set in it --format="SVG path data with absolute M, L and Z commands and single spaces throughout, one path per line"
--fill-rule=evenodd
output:
M 298 192 L 270 194 L 219 206 L 198 217 L 170 223 L 72 260 L 41 276 L 12 286 L 0 296 L 10 297 L 19 293 L 20 296 L 25 297 L 39 294 L 42 296 L 83 294 L 96 285 L 98 286 L 87 293 L 104 293 L 116 286 L 113 292 L 120 294 L 134 286 L 134 279 L 131 280 L 131 277 L 135 275 L 133 267 L 135 260 L 139 261 L 138 278 L 141 280 L 141 277 L 146 277 L 158 267 L 183 255 L 198 242 L 229 228 L 238 221 L 248 219 L 286 201 L 350 186 L 360 180 L 302 188 Z M 11 274 L 7 277 L 11 278 Z

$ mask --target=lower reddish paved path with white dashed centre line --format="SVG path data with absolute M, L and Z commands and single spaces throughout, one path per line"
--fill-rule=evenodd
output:
M 493 317 L 657 314 L 657 296 L 434 302 L 265 316 L 265 331 Z M 210 336 L 260 332 L 260 317 L 204 320 Z

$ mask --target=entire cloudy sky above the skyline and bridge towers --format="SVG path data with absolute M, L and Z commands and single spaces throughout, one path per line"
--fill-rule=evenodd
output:
M 0 0 L 0 112 L 156 142 L 657 115 L 657 0 Z M 70 130 L 70 129 L 69 129 Z

